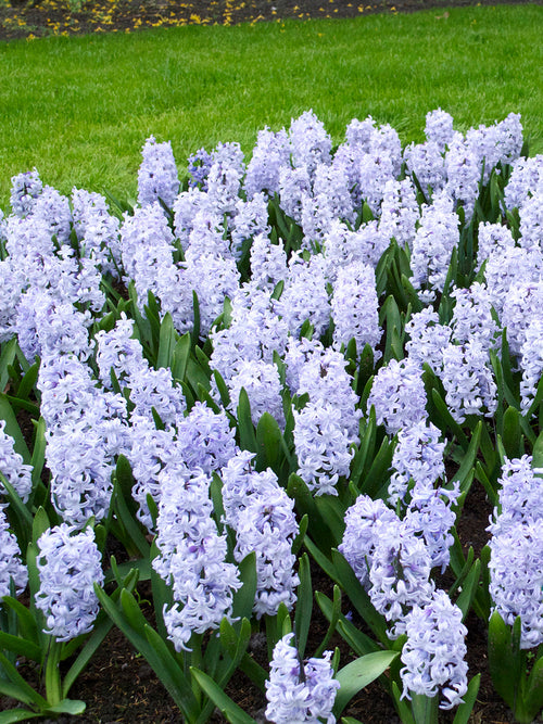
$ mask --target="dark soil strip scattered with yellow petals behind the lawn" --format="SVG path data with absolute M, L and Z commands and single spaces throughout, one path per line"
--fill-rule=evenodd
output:
M 354 17 L 522 0 L 0 0 L 0 40 L 149 27 Z M 543 0 L 533 0 L 541 4 Z M 446 15 L 445 15 L 446 17 Z

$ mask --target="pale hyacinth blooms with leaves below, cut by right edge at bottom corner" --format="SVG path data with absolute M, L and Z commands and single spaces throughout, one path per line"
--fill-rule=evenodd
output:
M 488 528 L 489 664 L 515 721 L 528 724 L 543 707 L 543 469 L 529 455 L 505 458 L 500 483 Z

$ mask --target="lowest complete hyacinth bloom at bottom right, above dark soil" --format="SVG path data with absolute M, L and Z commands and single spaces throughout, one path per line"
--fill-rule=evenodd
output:
M 444 590 L 435 590 L 432 598 L 416 604 L 405 618 L 407 640 L 401 659 L 403 669 L 402 698 L 413 694 L 429 698 L 441 695 L 441 709 L 453 709 L 463 702 L 468 688 L 465 661 L 466 626 L 460 609 Z

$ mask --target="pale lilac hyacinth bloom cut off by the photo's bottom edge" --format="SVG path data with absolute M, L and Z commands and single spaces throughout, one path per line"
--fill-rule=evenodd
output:
M 340 683 L 333 678 L 331 651 L 321 659 L 301 662 L 292 645 L 293 634 L 286 634 L 274 648 L 269 679 L 266 682 L 266 719 L 274 724 L 303 724 L 324 721 L 336 724 L 332 707 Z

